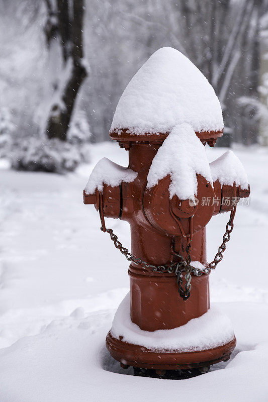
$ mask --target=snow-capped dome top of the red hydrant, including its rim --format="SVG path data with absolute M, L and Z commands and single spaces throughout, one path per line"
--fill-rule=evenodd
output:
M 222 135 L 219 99 L 207 78 L 180 51 L 157 50 L 131 79 L 119 99 L 110 136 L 136 141 L 166 135 L 188 123 L 203 138 Z M 143 138 L 142 138 L 143 137 Z M 149 139 L 149 138 L 148 138 Z

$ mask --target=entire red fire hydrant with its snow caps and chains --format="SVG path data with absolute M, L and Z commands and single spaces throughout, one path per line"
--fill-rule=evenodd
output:
M 208 162 L 205 145 L 222 135 L 210 83 L 182 53 L 159 49 L 127 85 L 110 130 L 129 152 L 128 168 L 104 158 L 84 189 L 84 203 L 100 213 L 101 230 L 130 262 L 130 293 L 106 345 L 122 367 L 140 375 L 205 373 L 228 360 L 236 345 L 228 317 L 210 308 L 209 275 L 223 258 L 236 205 L 250 190 L 232 151 Z M 208 263 L 206 225 L 224 212 L 230 217 L 223 241 Z M 131 251 L 105 217 L 129 222 Z

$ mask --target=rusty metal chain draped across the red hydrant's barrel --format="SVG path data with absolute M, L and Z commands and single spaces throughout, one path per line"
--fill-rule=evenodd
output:
M 157 272 L 157 273 L 174 273 L 176 275 L 176 282 L 178 285 L 178 292 L 180 296 L 186 301 L 190 297 L 191 292 L 191 280 L 193 273 L 196 276 L 201 276 L 203 274 L 209 274 L 211 269 L 215 269 L 218 263 L 222 260 L 223 255 L 222 253 L 226 250 L 226 243 L 230 240 L 230 233 L 233 230 L 234 224 L 234 216 L 236 212 L 236 205 L 231 211 L 230 219 L 226 225 L 226 231 L 223 235 L 223 242 L 220 245 L 217 254 L 212 262 L 208 264 L 208 266 L 204 269 L 200 269 L 191 265 L 191 241 L 192 237 L 190 235 L 187 236 L 187 243 L 186 243 L 186 258 L 181 254 L 172 251 L 172 254 L 180 259 L 180 261 L 170 262 L 169 264 L 164 265 L 153 265 L 149 264 L 146 261 L 142 261 L 141 258 L 134 256 L 131 254 L 126 247 L 123 247 L 122 243 L 118 240 L 118 236 L 114 234 L 112 229 L 106 228 L 104 213 L 103 213 L 103 194 L 100 192 L 100 206 L 99 206 L 99 213 L 101 218 L 101 231 L 107 232 L 110 235 L 111 240 L 114 242 L 114 245 L 119 251 L 126 257 L 126 259 L 130 262 L 134 262 L 134 264 L 140 265 L 143 269 Z M 229 229 L 230 226 L 230 229 Z M 185 275 L 183 275 L 185 272 Z M 185 279 L 185 285 L 183 287 L 183 280 Z

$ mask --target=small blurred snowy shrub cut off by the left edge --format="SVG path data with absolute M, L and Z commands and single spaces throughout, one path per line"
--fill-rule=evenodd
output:
M 0 109 L 0 158 L 6 157 L 12 144 L 12 133 L 15 124 L 12 122 L 12 114 L 8 108 Z

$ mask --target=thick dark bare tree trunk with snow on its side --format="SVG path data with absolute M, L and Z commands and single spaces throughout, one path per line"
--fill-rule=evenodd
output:
M 49 0 L 46 3 L 53 10 Z M 72 10 L 70 9 L 72 5 Z M 63 71 L 61 82 L 55 88 L 45 132 L 49 139 L 65 141 L 75 99 L 87 75 L 83 63 L 83 0 L 57 0 L 54 15 L 57 17 L 56 33 L 60 38 Z M 72 17 L 71 17 L 72 16 Z M 55 34 L 55 27 L 53 28 Z M 48 41 L 48 44 L 50 42 Z

